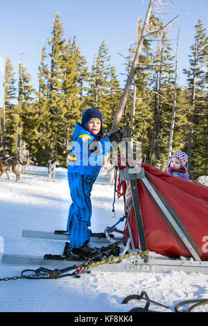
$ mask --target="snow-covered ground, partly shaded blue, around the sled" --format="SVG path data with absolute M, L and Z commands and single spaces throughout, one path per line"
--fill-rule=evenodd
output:
M 116 200 L 116 218 L 112 217 L 114 187 L 108 185 L 105 170 L 92 190 L 92 232 L 103 232 L 123 216 L 123 199 Z M 67 184 L 67 169 L 58 168 L 55 182 L 48 181 L 45 167 L 31 166 L 21 173 L 19 182 L 10 172 L 10 180 L 0 179 L 0 258 L 3 252 L 43 256 L 62 254 L 64 241 L 28 239 L 22 230 L 65 230 L 71 203 Z M 123 223 L 118 225 L 123 230 Z M 70 265 L 69 265 L 70 266 Z M 21 275 L 26 268 L 0 262 L 0 280 Z M 59 266 L 57 266 L 59 267 Z M 150 309 L 173 311 L 183 300 L 208 298 L 208 275 L 197 273 L 139 273 L 96 271 L 80 278 L 63 277 L 57 280 L 9 280 L 0 282 L 0 311 L 27 312 L 128 312 L 144 307 L 145 301 L 131 300 L 122 304 L 127 295 L 146 291 L 150 300 L 170 307 L 150 304 Z M 208 311 L 208 306 L 196 311 Z

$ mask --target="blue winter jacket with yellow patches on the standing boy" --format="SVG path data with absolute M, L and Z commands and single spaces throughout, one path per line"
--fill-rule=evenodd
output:
M 73 130 L 73 148 L 67 156 L 70 172 L 77 172 L 82 175 L 98 175 L 103 165 L 103 157 L 110 153 L 112 145 L 106 136 L 95 135 L 93 132 L 83 128 L 80 123 L 76 123 Z M 95 151 L 89 150 L 91 144 Z

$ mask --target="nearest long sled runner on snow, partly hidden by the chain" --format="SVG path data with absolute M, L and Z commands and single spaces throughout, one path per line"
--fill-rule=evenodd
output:
M 80 261 L 50 260 L 38 256 L 3 254 L 2 264 L 15 264 L 20 266 L 53 266 L 67 267 L 80 264 Z M 115 271 L 115 272 L 173 272 L 208 274 L 208 261 L 189 261 L 180 259 L 168 259 L 166 257 L 149 257 L 145 263 L 139 256 L 123 259 L 117 264 L 105 264 L 96 266 L 93 271 Z

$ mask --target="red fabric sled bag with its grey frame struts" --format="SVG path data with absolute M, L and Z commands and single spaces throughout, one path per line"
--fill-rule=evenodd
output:
M 119 178 L 131 248 L 208 261 L 208 187 L 144 163 L 139 173 L 128 170 Z

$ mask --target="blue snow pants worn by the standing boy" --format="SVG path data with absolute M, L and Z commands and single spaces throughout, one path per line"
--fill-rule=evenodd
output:
M 71 206 L 67 221 L 70 233 L 70 248 L 80 248 L 89 242 L 88 227 L 91 225 L 92 203 L 90 194 L 96 177 L 81 175 L 68 170 L 68 182 L 71 194 Z

